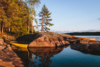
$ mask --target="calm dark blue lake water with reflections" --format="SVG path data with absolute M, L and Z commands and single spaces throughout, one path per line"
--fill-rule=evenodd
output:
M 100 41 L 100 36 L 81 37 Z M 85 46 L 78 48 L 68 45 L 59 48 L 29 48 L 28 51 L 15 52 L 26 63 L 26 67 L 100 67 L 100 51 Z

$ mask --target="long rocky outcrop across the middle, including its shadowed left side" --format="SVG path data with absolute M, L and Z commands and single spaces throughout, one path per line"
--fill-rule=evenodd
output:
M 70 44 L 100 44 L 100 41 L 89 41 L 84 39 L 74 39 L 68 34 L 58 34 L 53 32 L 42 32 L 30 34 L 15 39 L 11 36 L 3 36 L 8 40 L 18 43 L 28 44 L 28 47 L 60 47 Z

